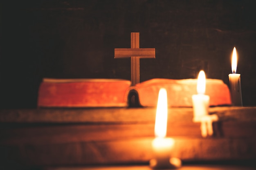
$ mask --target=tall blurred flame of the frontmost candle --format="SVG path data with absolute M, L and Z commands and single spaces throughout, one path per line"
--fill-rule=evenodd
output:
M 157 113 L 155 116 L 155 136 L 165 137 L 167 128 L 167 92 L 165 88 L 161 88 L 158 94 Z

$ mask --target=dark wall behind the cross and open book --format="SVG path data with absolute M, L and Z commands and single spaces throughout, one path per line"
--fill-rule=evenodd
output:
M 238 52 L 244 106 L 256 106 L 256 9 L 246 0 L 3 0 L 0 107 L 36 108 L 43 77 L 130 79 L 130 59 L 114 59 L 140 33 L 141 82 L 207 78 L 229 84 Z

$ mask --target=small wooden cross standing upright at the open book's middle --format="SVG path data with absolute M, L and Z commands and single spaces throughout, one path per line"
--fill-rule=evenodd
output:
M 155 49 L 139 48 L 139 33 L 131 33 L 130 49 L 115 49 L 115 58 L 131 57 L 131 82 L 132 86 L 139 83 L 139 59 L 155 58 Z

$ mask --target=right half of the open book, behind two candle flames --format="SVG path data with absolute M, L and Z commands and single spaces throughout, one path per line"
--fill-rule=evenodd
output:
M 168 106 L 192 107 L 192 95 L 197 94 L 197 79 L 150 79 L 132 86 L 141 106 L 157 106 L 160 88 L 166 88 Z M 205 95 L 210 96 L 210 106 L 231 105 L 229 88 L 220 79 L 206 79 Z

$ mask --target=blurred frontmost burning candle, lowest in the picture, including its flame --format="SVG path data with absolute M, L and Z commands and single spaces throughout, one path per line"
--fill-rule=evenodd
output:
M 178 168 L 181 166 L 180 159 L 171 158 L 171 151 L 174 145 L 174 139 L 166 137 L 167 130 L 167 92 L 161 88 L 158 94 L 157 112 L 155 117 L 155 136 L 152 141 L 152 148 L 155 159 L 150 160 L 150 166 L 156 169 Z

